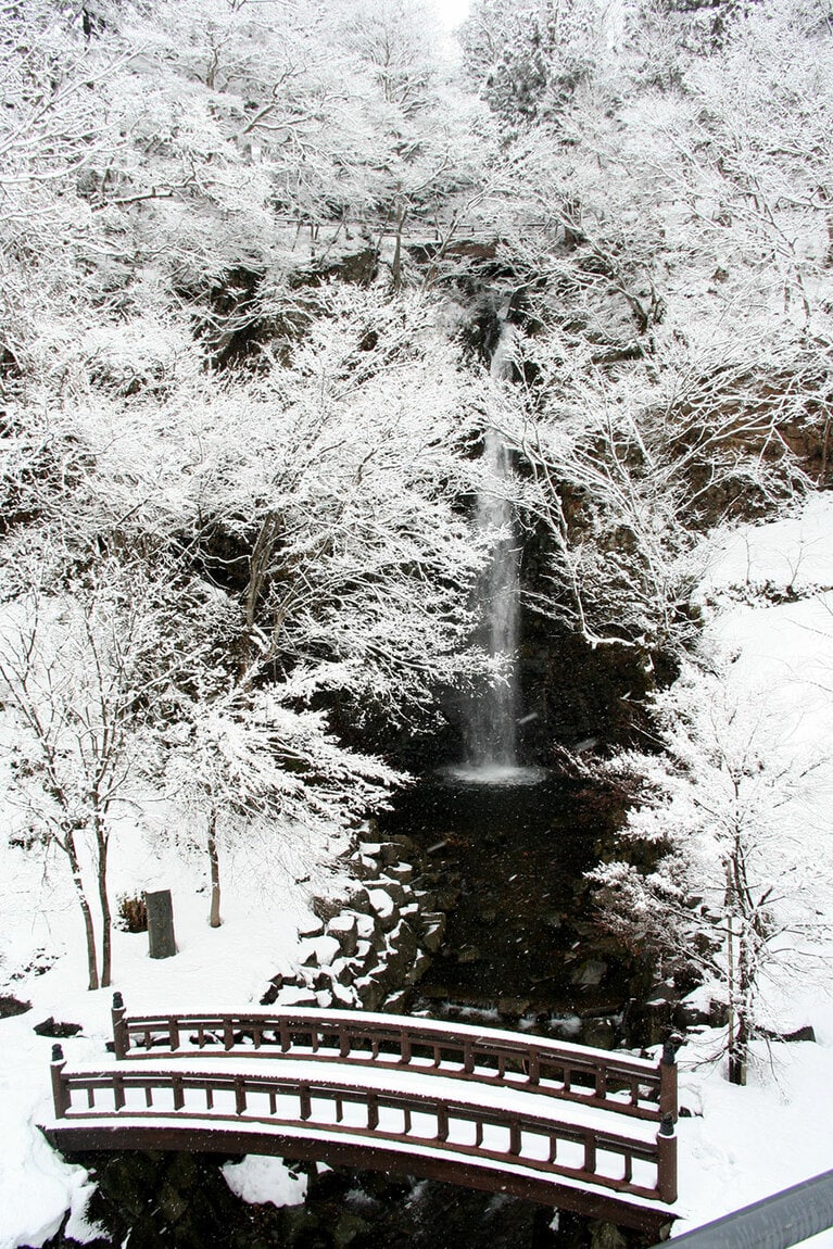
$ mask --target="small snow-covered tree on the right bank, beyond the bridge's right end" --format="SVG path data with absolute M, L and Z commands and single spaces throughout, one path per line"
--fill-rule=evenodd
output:
M 611 764 L 638 784 L 619 834 L 626 857 L 591 879 L 609 929 L 726 1003 L 739 1084 L 761 989 L 807 974 L 829 927 L 812 884 L 833 857 L 813 806 L 824 759 L 808 748 L 801 709 L 733 682 L 728 662 L 688 664 L 654 713 L 662 753 Z

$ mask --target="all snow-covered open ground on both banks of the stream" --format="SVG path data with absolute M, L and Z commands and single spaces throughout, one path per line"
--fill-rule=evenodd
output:
M 707 634 L 737 656 L 727 681 L 759 691 L 767 707 L 779 708 L 796 748 L 817 756 L 833 742 L 832 587 L 833 496 L 818 495 L 792 518 L 738 530 L 714 545 L 702 590 Z M 833 836 L 833 763 L 821 772 L 827 783 L 817 792 L 827 807 L 808 821 L 808 837 Z M 114 882 L 114 893 L 172 888 L 179 944 L 175 958 L 151 962 L 146 936 L 115 934 L 114 987 L 131 1013 L 252 1008 L 269 978 L 292 963 L 297 921 L 308 917 L 308 886 L 293 886 L 291 872 L 278 873 L 269 889 L 255 886 L 245 864 L 230 872 L 224 926 L 210 929 L 207 894 L 195 892 L 194 873 L 160 861 L 139 838 L 132 856 L 122 853 L 119 862 L 124 879 Z M 95 1063 L 110 1037 L 111 990 L 85 988 L 84 943 L 64 887 L 45 887 L 40 868 L 24 867 L 7 848 L 0 849 L 0 994 L 32 1003 L 29 1013 L 0 1020 L 0 1249 L 42 1244 L 67 1209 L 70 1233 L 84 1240 L 86 1175 L 62 1163 L 35 1127 L 50 1107 L 52 1042 L 36 1037 L 32 1024 L 49 1015 L 81 1024 L 82 1033 L 64 1042 L 67 1059 Z M 809 881 L 807 888 L 833 919 L 833 883 Z M 14 975 L 27 963 L 31 970 Z M 681 1050 L 681 1105 L 691 1117 L 678 1130 L 677 1234 L 833 1167 L 824 1093 L 833 1087 L 833 1002 L 826 979 L 796 978 L 779 990 L 772 1004 L 779 1024 L 812 1024 L 816 1043 L 762 1045 L 744 1089 L 729 1085 L 713 1060 L 716 1033 L 703 1032 Z M 229 1168 L 227 1179 L 250 1200 L 300 1197 L 275 1160 Z M 811 1243 L 833 1245 L 833 1230 Z

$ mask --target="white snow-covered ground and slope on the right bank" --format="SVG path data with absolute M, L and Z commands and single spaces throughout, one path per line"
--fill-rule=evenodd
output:
M 727 681 L 781 717 L 784 742 L 822 759 L 806 836 L 833 837 L 833 495 L 811 496 L 789 518 L 742 527 L 714 545 L 702 587 L 707 639 L 734 662 Z M 781 602 L 771 600 L 784 600 Z M 828 858 L 819 853 L 819 859 Z M 833 921 L 833 881 L 803 888 Z M 703 1033 L 679 1053 L 679 1192 L 676 1234 L 833 1168 L 833 945 L 829 973 L 808 972 L 778 990 L 783 1029 L 812 1024 L 816 1043 L 757 1044 L 744 1089 L 711 1060 L 718 1037 Z M 833 1245 L 833 1230 L 807 1242 Z

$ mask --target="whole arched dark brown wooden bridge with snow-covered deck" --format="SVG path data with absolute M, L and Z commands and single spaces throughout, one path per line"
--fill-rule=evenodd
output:
M 654 1237 L 677 1199 L 677 1068 L 361 1012 L 114 1010 L 115 1059 L 54 1049 L 62 1150 L 278 1154 L 501 1192 Z

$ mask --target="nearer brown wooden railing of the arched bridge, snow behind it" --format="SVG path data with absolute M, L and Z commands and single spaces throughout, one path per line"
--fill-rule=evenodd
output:
M 676 1138 L 667 1119 L 654 1139 L 633 1139 L 606 1127 L 562 1122 L 523 1108 L 482 1107 L 425 1090 L 363 1089 L 337 1080 L 264 1074 L 156 1070 L 149 1064 L 67 1073 L 60 1045 L 52 1059 L 55 1117 L 67 1125 L 95 1120 L 106 1133 L 121 1120 L 172 1128 L 231 1120 L 297 1133 L 303 1125 L 328 1139 L 430 1147 L 457 1157 L 517 1162 L 537 1175 L 569 1178 L 617 1194 L 673 1203 Z M 129 1120 L 126 1123 L 125 1120 Z

